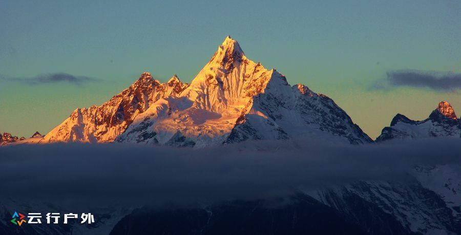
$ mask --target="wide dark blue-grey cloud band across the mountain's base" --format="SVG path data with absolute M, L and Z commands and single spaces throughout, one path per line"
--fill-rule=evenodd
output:
M 458 139 L 359 146 L 260 141 L 204 149 L 7 146 L 0 148 L 0 198 L 134 204 L 264 198 L 357 180 L 405 181 L 414 165 L 461 164 L 460 152 Z

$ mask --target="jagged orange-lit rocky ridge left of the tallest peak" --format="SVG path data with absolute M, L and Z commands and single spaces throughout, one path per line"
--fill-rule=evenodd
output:
M 128 89 L 106 103 L 76 109 L 41 142 L 112 142 L 152 103 L 176 96 L 187 86 L 176 75 L 160 83 L 150 73 L 143 73 Z

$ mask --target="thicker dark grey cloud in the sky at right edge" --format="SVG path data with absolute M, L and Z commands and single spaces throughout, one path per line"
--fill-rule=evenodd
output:
M 414 87 L 429 88 L 436 91 L 454 91 L 461 88 L 461 74 L 420 70 L 389 71 L 385 78 L 374 82 L 371 87 L 378 90 Z

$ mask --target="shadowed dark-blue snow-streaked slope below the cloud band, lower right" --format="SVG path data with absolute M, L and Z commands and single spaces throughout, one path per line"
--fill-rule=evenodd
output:
M 423 234 L 461 234 L 461 166 L 457 164 L 416 166 L 409 180 L 358 181 L 308 194 L 350 218 L 382 210 L 407 231 Z M 382 223 L 373 218 L 368 226 Z

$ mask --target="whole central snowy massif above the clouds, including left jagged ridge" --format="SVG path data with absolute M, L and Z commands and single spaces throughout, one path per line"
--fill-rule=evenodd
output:
M 207 146 L 290 138 L 372 142 L 333 100 L 302 84 L 289 86 L 228 36 L 191 84 L 143 73 L 108 102 L 76 109 L 42 142 Z

